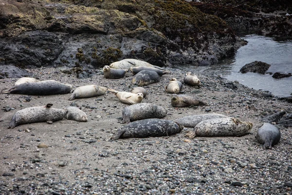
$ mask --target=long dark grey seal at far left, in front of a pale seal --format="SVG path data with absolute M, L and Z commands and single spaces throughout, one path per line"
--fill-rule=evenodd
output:
M 26 82 L 15 85 L 3 94 L 23 94 L 31 96 L 49 96 L 57 94 L 69 94 L 72 86 L 60 83 L 55 80 L 44 80 L 39 82 Z

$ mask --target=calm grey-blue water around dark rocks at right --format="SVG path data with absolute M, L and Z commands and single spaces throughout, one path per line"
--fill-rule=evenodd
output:
M 267 72 L 292 73 L 292 41 L 275 41 L 258 35 L 248 35 L 243 39 L 248 44 L 239 48 L 234 58 L 222 60 L 209 67 L 187 66 L 187 69 L 194 69 L 195 73 L 221 75 L 250 88 L 270 91 L 278 97 L 291 96 L 292 77 L 275 79 L 270 74 L 242 74 L 239 70 L 247 63 L 263 61 L 271 64 Z

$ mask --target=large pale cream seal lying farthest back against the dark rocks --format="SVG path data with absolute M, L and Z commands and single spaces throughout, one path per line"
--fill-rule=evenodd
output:
M 115 69 L 129 69 L 130 67 L 137 67 L 137 66 L 148 66 L 148 67 L 158 68 L 160 70 L 165 70 L 164 68 L 161 68 L 159 66 L 154 66 L 152 64 L 149 64 L 146 61 L 142 61 L 138 59 L 123 59 L 120 61 L 115 61 L 110 64 L 110 68 L 115 68 Z

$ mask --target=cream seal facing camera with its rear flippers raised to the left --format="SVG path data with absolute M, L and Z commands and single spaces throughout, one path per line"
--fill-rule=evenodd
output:
M 108 91 L 114 93 L 116 95 L 116 97 L 118 97 L 119 100 L 125 104 L 140 103 L 143 99 L 142 93 L 134 94 L 134 93 L 130 93 L 130 92 L 119 92 L 119 91 L 116 91 L 114 89 L 108 89 Z

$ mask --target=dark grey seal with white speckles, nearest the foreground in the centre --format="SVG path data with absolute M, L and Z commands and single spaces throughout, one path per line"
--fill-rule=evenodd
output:
M 171 120 L 148 118 L 131 122 L 122 129 L 118 129 L 118 132 L 110 139 L 171 136 L 182 130 L 183 126 Z

